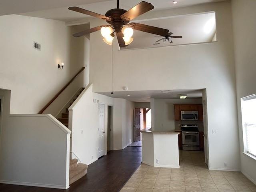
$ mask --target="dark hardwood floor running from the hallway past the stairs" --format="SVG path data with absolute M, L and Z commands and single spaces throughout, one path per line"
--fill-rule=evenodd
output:
M 119 192 L 141 163 L 141 147 L 108 152 L 67 190 L 0 184 L 0 192 Z

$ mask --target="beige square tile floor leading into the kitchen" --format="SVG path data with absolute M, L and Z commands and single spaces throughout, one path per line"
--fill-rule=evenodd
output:
M 180 168 L 141 164 L 120 192 L 256 192 L 241 172 L 212 171 L 204 153 L 180 151 Z

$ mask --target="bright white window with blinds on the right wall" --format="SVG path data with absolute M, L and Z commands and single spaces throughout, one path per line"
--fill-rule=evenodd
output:
M 256 94 L 242 98 L 244 152 L 256 156 Z

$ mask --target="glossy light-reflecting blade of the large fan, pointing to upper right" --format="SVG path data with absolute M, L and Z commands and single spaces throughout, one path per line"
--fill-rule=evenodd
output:
M 124 14 L 121 15 L 122 20 L 132 20 L 150 10 L 154 9 L 154 6 L 151 3 L 142 1 Z

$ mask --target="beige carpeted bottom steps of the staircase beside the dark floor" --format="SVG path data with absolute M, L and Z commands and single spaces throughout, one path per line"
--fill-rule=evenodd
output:
M 70 160 L 69 166 L 69 184 L 74 183 L 78 179 L 82 178 L 87 173 L 88 165 L 77 163 L 78 159 Z

